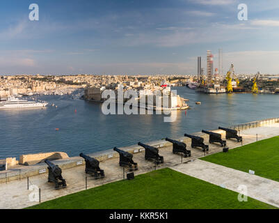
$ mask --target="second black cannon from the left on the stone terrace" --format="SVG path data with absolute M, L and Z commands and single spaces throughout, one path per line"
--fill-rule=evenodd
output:
M 86 161 L 86 174 L 91 174 L 95 179 L 104 178 L 104 170 L 99 168 L 99 161 L 93 157 L 79 154 Z

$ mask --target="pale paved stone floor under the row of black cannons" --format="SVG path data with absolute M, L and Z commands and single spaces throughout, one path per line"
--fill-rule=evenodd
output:
M 258 134 L 258 136 L 256 136 Z M 241 130 L 241 136 L 244 137 L 243 144 L 250 144 L 260 139 L 266 139 L 279 135 L 279 123 L 273 123 L 270 125 L 251 128 L 248 130 Z M 208 136 L 205 135 L 205 142 L 208 141 Z M 222 147 L 218 144 L 210 144 L 209 152 L 203 153 L 198 148 L 191 148 L 191 139 L 184 138 L 184 142 L 187 144 L 187 148 L 191 149 L 191 157 L 183 158 L 183 162 L 188 162 L 190 160 L 196 160 L 204 155 L 209 155 L 212 153 L 218 153 L 222 151 Z M 237 143 L 234 140 L 227 140 L 227 145 L 229 148 L 235 148 L 241 146 L 241 143 Z M 161 164 L 157 169 L 164 167 L 175 167 L 184 169 L 187 164 L 182 164 L 181 156 L 172 153 L 172 147 L 167 146 L 164 148 L 159 148 L 159 154 L 164 156 L 164 164 Z M 77 159 L 77 157 L 72 157 L 71 159 Z M 79 157 L 80 160 L 80 157 Z M 148 171 L 154 170 L 154 164 L 148 162 L 144 159 L 144 153 L 136 153 L 133 158 L 134 162 L 138 162 L 138 171 L 134 174 L 143 174 Z M 69 162 L 66 160 L 65 162 Z M 105 183 L 113 182 L 116 180 L 122 180 L 123 169 L 119 167 L 118 158 L 111 160 L 106 160 L 100 162 L 100 168 L 104 169 L 106 177 L 103 179 L 94 180 L 88 178 L 88 188 L 96 187 Z M 193 163 L 197 163 L 196 160 Z M 192 162 L 191 162 L 192 163 Z M 190 163 L 190 164 L 191 164 Z M 188 166 L 187 166 L 188 167 Z M 35 167 L 27 167 L 35 168 Z M 36 167 L 38 168 L 38 167 Z M 41 189 L 41 201 L 48 201 L 50 199 L 55 199 L 57 197 L 65 196 L 66 194 L 71 194 L 74 192 L 79 192 L 85 190 L 86 187 L 86 174 L 84 173 L 84 166 L 78 166 L 70 169 L 63 169 L 63 178 L 67 180 L 67 187 L 61 190 L 54 190 L 54 185 L 52 183 L 47 183 L 47 174 L 40 174 L 37 176 L 32 176 L 29 178 L 29 186 L 37 185 Z M 30 201 L 29 195 L 31 190 L 27 190 L 27 178 L 22 178 L 21 180 L 12 180 L 8 183 L 0 184 L 0 208 L 25 208 L 28 206 L 33 206 L 38 203 L 38 201 Z

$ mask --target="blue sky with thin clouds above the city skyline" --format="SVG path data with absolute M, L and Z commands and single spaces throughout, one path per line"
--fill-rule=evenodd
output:
M 224 72 L 279 73 L 278 0 L 10 0 L 0 12 L 4 75 L 196 74 L 207 49 L 218 67 L 219 48 Z

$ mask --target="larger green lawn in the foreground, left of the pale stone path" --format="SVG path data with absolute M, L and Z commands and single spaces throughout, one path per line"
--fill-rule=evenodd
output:
M 90 190 L 47 201 L 31 208 L 274 208 L 211 183 L 160 169 Z

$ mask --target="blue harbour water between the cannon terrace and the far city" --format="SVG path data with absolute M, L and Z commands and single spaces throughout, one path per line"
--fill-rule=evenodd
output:
M 45 109 L 2 110 L 0 159 L 48 151 L 76 156 L 279 116 L 279 95 L 207 95 L 186 87 L 173 89 L 188 98 L 191 107 L 177 112 L 173 123 L 164 122 L 163 114 L 106 116 L 101 104 L 72 95 L 38 97 L 49 102 Z M 202 104 L 196 105 L 197 101 Z

